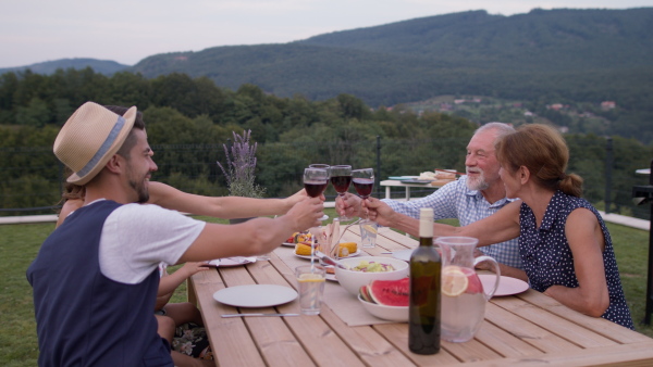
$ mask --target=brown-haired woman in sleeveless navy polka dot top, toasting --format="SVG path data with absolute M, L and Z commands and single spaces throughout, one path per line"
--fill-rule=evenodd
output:
M 479 245 L 519 237 L 530 287 L 583 314 L 633 329 L 612 239 L 601 215 L 581 199 L 582 179 L 566 175 L 569 150 L 545 125 L 525 125 L 496 143 L 508 198 L 494 215 L 465 227 L 434 224 L 436 236 L 468 236 Z M 416 219 L 377 199 L 366 202 L 370 218 L 415 233 Z

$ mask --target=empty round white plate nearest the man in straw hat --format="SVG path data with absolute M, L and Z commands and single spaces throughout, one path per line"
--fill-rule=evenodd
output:
M 234 307 L 271 307 L 296 298 L 294 289 L 275 284 L 236 286 L 213 293 L 215 301 Z

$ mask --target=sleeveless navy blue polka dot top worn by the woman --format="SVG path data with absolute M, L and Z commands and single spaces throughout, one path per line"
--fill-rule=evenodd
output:
M 540 292 L 544 292 L 554 284 L 569 288 L 578 287 L 578 279 L 574 269 L 574 255 L 565 236 L 567 217 L 578 207 L 584 207 L 594 213 L 605 238 L 603 265 L 609 293 L 609 306 L 601 317 L 629 329 L 634 329 L 630 309 L 621 289 L 612 238 L 596 208 L 584 199 L 567 195 L 559 190 L 556 191 L 546 207 L 540 228 L 537 228 L 535 216 L 531 208 L 526 204 L 521 204 L 519 212 L 521 230 L 519 252 L 530 287 Z

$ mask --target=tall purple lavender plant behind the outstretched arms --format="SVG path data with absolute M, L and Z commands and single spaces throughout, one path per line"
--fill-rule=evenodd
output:
M 243 131 L 243 135 L 237 135 L 236 132 L 233 132 L 233 135 L 234 143 L 231 147 L 231 152 L 229 147 L 223 144 L 226 155 L 226 167 L 217 162 L 226 178 L 230 195 L 262 198 L 266 189 L 254 181 L 256 177 L 257 143 L 255 142 L 254 145 L 249 143 L 251 130 Z

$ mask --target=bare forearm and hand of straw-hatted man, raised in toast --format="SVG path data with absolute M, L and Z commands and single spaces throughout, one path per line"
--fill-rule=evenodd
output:
M 307 198 L 278 218 L 256 218 L 238 225 L 206 224 L 177 264 L 269 253 L 293 232 L 320 225 L 322 200 Z

